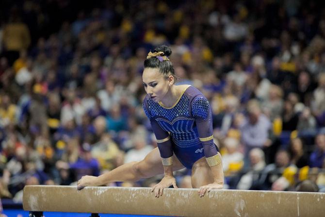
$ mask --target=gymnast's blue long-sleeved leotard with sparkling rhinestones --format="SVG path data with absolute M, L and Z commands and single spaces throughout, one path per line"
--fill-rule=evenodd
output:
M 172 107 L 165 107 L 146 95 L 143 109 L 156 135 L 162 158 L 175 153 L 179 161 L 191 169 L 198 159 L 218 153 L 213 143 L 209 101 L 195 87 L 186 87 Z

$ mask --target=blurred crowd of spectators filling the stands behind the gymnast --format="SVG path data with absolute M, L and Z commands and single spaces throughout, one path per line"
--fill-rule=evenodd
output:
M 324 191 L 324 2 L 75 3 L 0 3 L 1 198 L 75 184 L 155 148 L 141 76 L 162 44 L 179 84 L 210 101 L 225 188 Z M 179 187 L 190 173 L 176 173 Z

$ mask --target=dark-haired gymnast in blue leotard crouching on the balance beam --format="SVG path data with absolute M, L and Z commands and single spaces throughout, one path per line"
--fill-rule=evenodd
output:
M 144 62 L 142 81 L 146 90 L 143 109 L 157 138 L 158 148 L 139 162 L 124 164 L 96 176 L 83 176 L 77 188 L 111 182 L 137 181 L 164 174 L 152 188 L 156 197 L 164 188 L 177 188 L 173 171 L 192 170 L 192 187 L 203 197 L 211 189 L 222 189 L 222 159 L 213 143 L 209 101 L 191 85 L 175 85 L 177 77 L 168 56 L 169 47 L 149 52 Z

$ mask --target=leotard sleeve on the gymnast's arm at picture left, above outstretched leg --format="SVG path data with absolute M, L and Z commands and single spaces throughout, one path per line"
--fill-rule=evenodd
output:
M 150 111 L 148 110 L 148 105 L 146 99 L 143 103 L 143 110 L 146 117 L 150 120 L 151 128 L 157 139 L 157 145 L 162 158 L 169 158 L 173 156 L 173 148 L 171 138 L 168 132 L 164 131 L 158 122 L 152 118 Z

